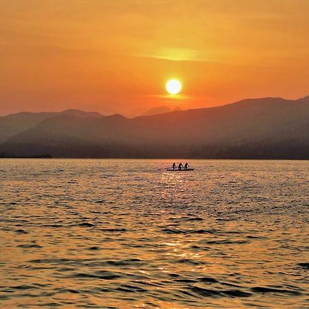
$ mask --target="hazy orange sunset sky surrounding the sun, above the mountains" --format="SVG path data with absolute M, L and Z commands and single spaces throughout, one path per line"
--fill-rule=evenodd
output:
M 0 115 L 303 97 L 308 12 L 307 0 L 0 0 Z

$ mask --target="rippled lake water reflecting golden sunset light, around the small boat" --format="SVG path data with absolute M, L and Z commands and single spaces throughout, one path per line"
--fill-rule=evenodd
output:
M 308 161 L 0 160 L 3 308 L 309 308 Z

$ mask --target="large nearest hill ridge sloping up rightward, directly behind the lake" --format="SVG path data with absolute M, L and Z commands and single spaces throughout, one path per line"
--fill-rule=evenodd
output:
M 309 97 L 128 119 L 58 114 L 6 139 L 16 157 L 309 159 Z

